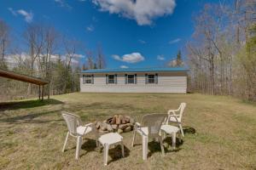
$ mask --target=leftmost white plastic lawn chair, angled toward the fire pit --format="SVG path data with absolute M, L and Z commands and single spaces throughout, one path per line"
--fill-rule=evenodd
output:
M 67 137 L 65 139 L 65 143 L 63 145 L 62 152 L 64 152 L 65 147 L 67 145 L 67 139 L 68 136 L 72 136 L 74 138 L 77 138 L 77 148 L 76 148 L 76 159 L 79 159 L 79 150 L 81 148 L 81 145 L 83 143 L 83 136 L 87 133 L 92 132 L 95 128 L 92 123 L 88 123 L 84 126 L 82 126 L 81 118 L 77 115 L 68 113 L 66 111 L 61 111 L 61 115 L 63 116 L 64 120 L 67 122 Z M 96 140 L 96 145 L 98 145 L 98 142 Z

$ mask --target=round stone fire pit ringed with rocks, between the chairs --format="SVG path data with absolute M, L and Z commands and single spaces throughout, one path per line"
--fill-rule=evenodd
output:
M 134 123 L 135 121 L 131 116 L 115 115 L 103 122 L 95 122 L 95 125 L 100 133 L 126 133 L 133 129 Z

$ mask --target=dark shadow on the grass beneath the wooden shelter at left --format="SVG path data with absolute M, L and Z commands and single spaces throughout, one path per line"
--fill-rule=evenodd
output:
M 56 99 L 45 99 L 44 101 L 33 99 L 33 100 L 15 101 L 15 102 L 2 102 L 0 103 L 0 111 L 29 109 L 29 108 L 39 107 L 43 105 L 59 105 L 59 104 L 63 104 L 63 102 Z

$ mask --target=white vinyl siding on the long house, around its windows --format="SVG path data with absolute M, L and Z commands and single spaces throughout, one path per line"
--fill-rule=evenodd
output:
M 127 77 L 125 77 L 125 74 Z M 154 75 L 154 83 L 145 83 L 145 74 Z M 109 73 L 109 75 L 115 75 Z M 136 83 L 125 83 L 129 75 L 134 77 Z M 157 79 L 156 79 L 157 77 Z M 81 76 L 82 82 L 83 76 Z M 81 92 L 109 92 L 109 93 L 186 93 L 187 74 L 179 72 L 158 72 L 158 73 L 117 73 L 116 83 L 107 84 L 106 74 L 94 74 L 94 84 L 81 83 Z M 135 80 L 134 80 L 135 81 Z M 128 80 L 127 80 L 128 82 Z

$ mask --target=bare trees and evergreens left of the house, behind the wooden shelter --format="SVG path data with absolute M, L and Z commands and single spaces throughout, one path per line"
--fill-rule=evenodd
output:
M 99 45 L 96 53 L 73 37 L 66 37 L 54 26 L 32 23 L 13 37 L 4 20 L 0 20 L 0 68 L 41 77 L 49 82 L 45 94 L 66 94 L 79 91 L 82 69 L 104 68 L 106 63 Z M 18 45 L 17 45 L 18 42 Z M 84 58 L 85 57 L 85 58 Z M 84 65 L 79 61 L 84 59 Z M 38 87 L 0 77 L 0 100 L 38 95 Z

